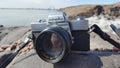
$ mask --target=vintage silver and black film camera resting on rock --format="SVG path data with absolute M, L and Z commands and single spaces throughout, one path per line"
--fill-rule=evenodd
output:
M 32 36 L 38 56 L 49 63 L 65 59 L 71 51 L 89 51 L 88 20 L 69 20 L 66 13 L 50 13 L 46 21 L 31 23 Z

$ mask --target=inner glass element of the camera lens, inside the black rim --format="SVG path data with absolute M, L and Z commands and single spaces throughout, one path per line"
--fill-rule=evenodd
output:
M 60 55 L 63 50 L 63 42 L 55 33 L 44 34 L 44 39 L 41 40 L 42 55 L 48 59 L 54 59 Z

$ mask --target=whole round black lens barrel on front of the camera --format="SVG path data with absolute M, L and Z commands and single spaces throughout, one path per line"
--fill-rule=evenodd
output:
M 70 52 L 71 45 L 69 33 L 63 28 L 54 27 L 40 33 L 35 49 L 44 61 L 57 63 Z

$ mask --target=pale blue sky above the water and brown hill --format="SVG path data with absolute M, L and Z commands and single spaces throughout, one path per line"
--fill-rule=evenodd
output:
M 113 4 L 120 0 L 0 0 L 0 8 L 63 8 L 85 4 Z

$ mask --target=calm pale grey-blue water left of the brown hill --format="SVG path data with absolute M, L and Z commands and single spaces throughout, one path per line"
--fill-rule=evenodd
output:
M 54 10 L 7 10 L 0 9 L 0 25 L 30 26 L 31 22 L 46 19 Z

